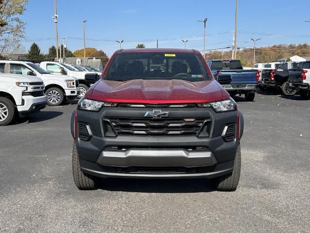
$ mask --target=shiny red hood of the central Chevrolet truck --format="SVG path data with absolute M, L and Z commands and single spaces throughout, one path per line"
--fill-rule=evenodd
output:
M 100 80 L 85 97 L 106 102 L 126 103 L 192 103 L 229 98 L 215 81 L 131 80 L 117 82 Z

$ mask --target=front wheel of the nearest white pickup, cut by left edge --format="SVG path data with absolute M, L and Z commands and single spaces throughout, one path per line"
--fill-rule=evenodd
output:
M 0 97 L 0 126 L 10 124 L 16 116 L 14 103 L 4 97 Z

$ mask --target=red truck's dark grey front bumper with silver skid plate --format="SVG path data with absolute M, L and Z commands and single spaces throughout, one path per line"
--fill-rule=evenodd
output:
M 225 142 L 221 136 L 227 124 L 236 123 L 237 112 L 215 113 L 213 110 L 176 109 L 185 118 L 204 115 L 212 118 L 209 137 L 197 136 L 103 136 L 102 120 L 110 116 L 144 114 L 147 109 L 121 108 L 99 113 L 78 110 L 77 123 L 87 124 L 88 141 L 78 138 L 75 143 L 80 168 L 98 177 L 136 178 L 212 178 L 232 172 L 239 140 Z M 164 109 L 165 110 L 165 109 Z M 171 109 L 170 109 L 171 110 Z M 171 110 L 171 116 L 173 111 Z M 243 116 L 240 117 L 240 137 Z M 74 136 L 74 113 L 71 131 Z M 203 147 L 202 151 L 188 148 Z M 114 148 L 114 149 L 113 149 Z M 127 149 L 125 149 L 127 148 Z

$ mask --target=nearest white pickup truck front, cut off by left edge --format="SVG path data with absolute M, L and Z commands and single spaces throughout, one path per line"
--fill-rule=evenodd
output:
M 28 116 L 45 108 L 46 101 L 42 79 L 0 73 L 0 126 L 10 124 L 17 114 Z

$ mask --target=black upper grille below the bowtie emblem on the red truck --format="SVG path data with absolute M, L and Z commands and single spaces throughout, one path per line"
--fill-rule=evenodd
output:
M 211 119 L 145 119 L 117 118 L 104 119 L 104 124 L 110 124 L 117 135 L 135 136 L 190 136 L 210 135 Z M 105 127 L 108 129 L 108 127 Z M 105 132 L 107 135 L 107 132 Z

